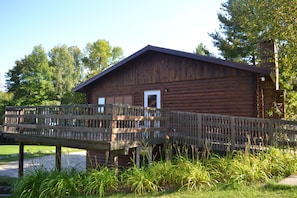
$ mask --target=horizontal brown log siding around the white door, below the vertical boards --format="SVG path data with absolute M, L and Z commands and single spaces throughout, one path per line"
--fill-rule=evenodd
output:
M 145 90 L 161 90 L 161 107 L 164 109 L 256 117 L 256 91 L 253 90 L 252 83 L 251 76 L 240 76 L 123 86 L 113 90 L 94 90 L 90 102 L 96 103 L 98 97 L 130 94 L 133 105 L 142 106 Z M 104 95 L 105 93 L 108 94 Z

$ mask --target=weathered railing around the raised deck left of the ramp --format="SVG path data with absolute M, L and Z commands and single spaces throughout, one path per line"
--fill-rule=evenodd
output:
M 129 105 L 7 107 L 4 131 L 88 141 L 135 141 L 167 129 L 162 110 Z

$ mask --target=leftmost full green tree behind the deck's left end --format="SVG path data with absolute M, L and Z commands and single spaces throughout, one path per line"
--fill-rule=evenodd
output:
M 13 93 L 14 105 L 48 105 L 53 93 L 52 71 L 41 45 L 30 55 L 15 62 L 6 73 L 8 93 Z

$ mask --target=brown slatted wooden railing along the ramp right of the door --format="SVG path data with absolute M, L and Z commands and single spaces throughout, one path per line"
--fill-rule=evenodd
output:
M 296 148 L 297 121 L 170 112 L 173 142 L 211 150 Z

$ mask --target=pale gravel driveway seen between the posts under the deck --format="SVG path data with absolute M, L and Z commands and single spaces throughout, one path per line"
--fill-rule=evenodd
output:
M 0 176 L 18 177 L 18 161 L 0 165 Z M 24 174 L 38 168 L 53 170 L 55 168 L 55 155 L 36 157 L 24 160 Z M 62 154 L 62 169 L 76 168 L 81 171 L 86 170 L 86 152 L 73 152 Z

